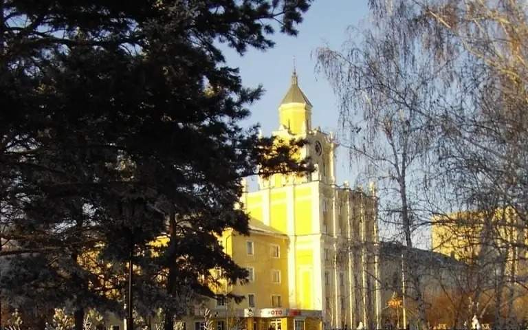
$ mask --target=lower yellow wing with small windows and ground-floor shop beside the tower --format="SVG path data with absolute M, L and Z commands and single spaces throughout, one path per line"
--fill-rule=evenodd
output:
M 320 330 L 321 311 L 295 308 L 287 299 L 289 237 L 256 219 L 251 219 L 249 228 L 250 236 L 228 230 L 220 238 L 225 252 L 248 270 L 248 283 L 220 281 L 216 288 L 217 294 L 236 294 L 244 300 L 238 304 L 205 300 L 195 307 L 194 315 L 184 318 L 185 328 L 206 329 L 209 318 L 217 330 Z

